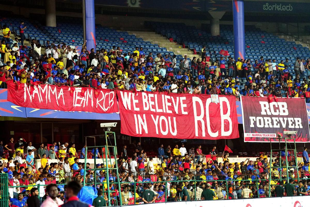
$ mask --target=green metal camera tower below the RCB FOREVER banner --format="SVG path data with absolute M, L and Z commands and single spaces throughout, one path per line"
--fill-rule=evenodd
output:
M 272 149 L 272 143 L 271 143 L 271 139 L 270 139 L 270 160 L 269 160 L 269 167 L 270 167 L 270 169 L 269 169 L 269 197 L 271 197 L 271 193 L 270 193 L 270 191 L 271 191 L 271 184 L 270 184 L 270 182 L 271 182 L 271 174 L 272 174 L 272 169 L 274 169 L 274 168 L 280 168 L 281 170 L 280 170 L 280 173 L 279 173 L 279 178 L 280 178 L 280 181 L 282 181 L 282 169 L 286 169 L 286 183 L 289 183 L 289 169 L 290 168 L 294 168 L 296 171 L 296 174 L 297 174 L 297 180 L 298 180 L 298 182 L 299 182 L 299 173 L 298 173 L 298 166 L 297 166 L 297 153 L 296 153 L 296 142 L 295 142 L 295 138 L 291 138 L 291 137 L 278 137 L 277 139 L 279 139 L 279 149 Z M 285 140 L 285 149 L 281 149 L 281 147 L 280 147 L 280 140 L 281 139 L 284 139 Z M 289 142 L 288 140 L 293 140 L 294 141 L 294 149 L 287 149 L 287 142 Z M 288 164 L 288 155 L 287 155 L 287 152 L 288 152 L 288 150 L 293 150 L 294 151 L 294 161 L 295 161 L 295 166 L 289 166 L 289 164 Z M 276 167 L 276 166 L 272 166 L 272 152 L 273 151 L 279 151 L 279 154 L 280 154 L 280 156 L 279 156 L 279 159 L 280 159 L 280 161 L 279 161 L 279 164 L 280 164 L 280 166 L 278 166 L 278 167 Z M 282 166 L 282 158 L 281 158 L 281 151 L 285 151 L 285 166 Z M 292 156 L 292 155 L 290 155 L 290 156 Z M 292 159 L 292 161 L 293 161 L 293 159 Z

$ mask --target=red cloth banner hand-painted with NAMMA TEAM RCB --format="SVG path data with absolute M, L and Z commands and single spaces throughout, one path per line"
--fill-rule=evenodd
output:
M 7 88 L 7 100 L 22 107 L 96 113 L 118 112 L 116 93 L 109 89 L 45 84 L 27 86 L 12 81 L 7 82 Z

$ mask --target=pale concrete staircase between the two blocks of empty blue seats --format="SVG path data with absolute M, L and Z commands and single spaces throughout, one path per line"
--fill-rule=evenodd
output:
M 137 38 L 142 38 L 144 41 L 149 41 L 152 44 L 158 44 L 159 47 L 166 47 L 167 51 L 173 52 L 175 55 L 187 55 L 191 60 L 193 57 L 199 57 L 199 55 L 194 55 L 192 51 L 188 48 L 183 48 L 182 45 L 178 45 L 174 42 L 170 42 L 166 37 L 162 37 L 160 34 L 155 34 L 154 32 L 138 32 L 138 31 L 127 31 L 128 34 L 134 34 Z

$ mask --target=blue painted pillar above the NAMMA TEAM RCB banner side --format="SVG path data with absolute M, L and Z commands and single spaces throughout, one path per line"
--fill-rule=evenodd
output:
M 85 34 L 87 50 L 91 51 L 91 48 L 94 48 L 96 51 L 95 3 L 94 0 L 83 1 L 85 1 Z

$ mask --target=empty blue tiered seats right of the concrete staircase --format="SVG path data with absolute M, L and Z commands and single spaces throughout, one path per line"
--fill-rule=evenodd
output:
M 186 26 L 182 23 L 145 22 L 148 28 L 153 28 L 157 34 L 173 38 L 179 44 L 183 44 L 190 50 L 199 52 L 203 45 L 206 46 L 207 54 L 210 54 L 214 62 L 220 58 L 219 51 L 227 50 L 234 57 L 233 50 L 233 27 L 232 25 L 220 25 L 220 36 L 212 37 L 211 34 Z M 246 58 L 251 60 L 276 59 L 277 61 L 289 58 L 294 63 L 296 57 L 308 58 L 309 49 L 295 42 L 288 42 L 278 36 L 261 31 L 255 26 L 246 26 Z M 296 50 L 294 49 L 296 48 Z

